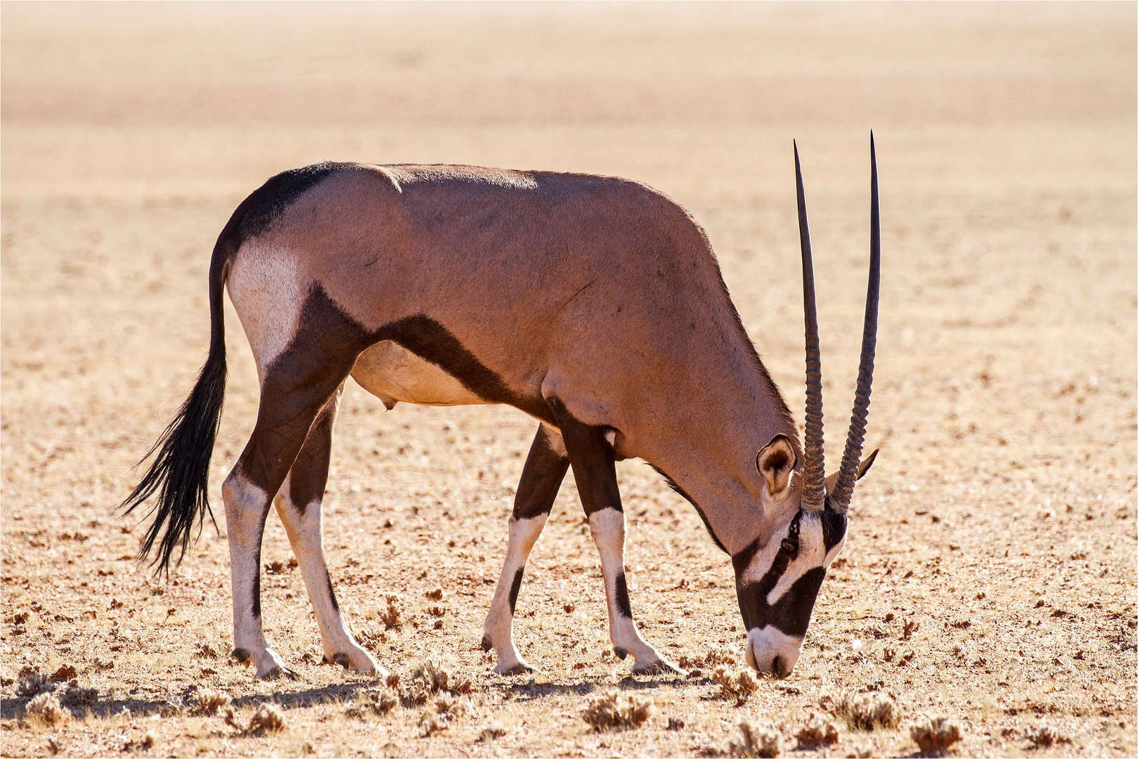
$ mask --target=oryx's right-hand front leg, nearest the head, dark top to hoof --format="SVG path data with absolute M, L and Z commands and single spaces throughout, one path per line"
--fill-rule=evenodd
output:
M 625 512 L 620 505 L 616 457 L 608 438 L 609 430 L 576 420 L 558 398 L 549 401 L 572 464 L 577 492 L 588 518 L 588 529 L 601 556 L 612 651 L 620 659 L 632 654 L 636 660 L 633 665 L 634 673 L 682 674 L 684 670 L 641 637 L 633 620 L 628 583 L 625 579 Z

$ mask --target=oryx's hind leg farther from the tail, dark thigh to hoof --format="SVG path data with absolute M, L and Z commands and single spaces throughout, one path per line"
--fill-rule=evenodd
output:
M 273 505 L 284 523 L 284 531 L 316 613 L 324 661 L 338 663 L 354 673 L 378 673 L 386 677 L 387 671 L 356 642 L 345 624 L 336 601 L 336 591 L 332 589 L 332 578 L 324 562 L 322 504 L 332 448 L 332 427 L 343 393 L 341 382 L 316 414 Z

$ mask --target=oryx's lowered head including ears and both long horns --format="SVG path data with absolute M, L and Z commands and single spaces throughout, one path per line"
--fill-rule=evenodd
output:
M 794 448 L 778 435 L 759 452 L 757 465 L 766 495 L 778 504 L 781 523 L 732 556 L 739 605 L 747 626 L 747 661 L 759 671 L 785 677 L 794 669 L 810 612 L 826 569 L 846 545 L 846 515 L 853 482 L 873 464 L 876 451 L 859 461 L 873 382 L 881 280 L 881 224 L 877 207 L 877 160 L 869 135 L 869 287 L 866 295 L 861 365 L 841 468 L 824 476 L 822 444 L 822 361 L 814 298 L 814 263 L 806 222 L 802 171 L 794 147 L 798 178 L 798 223 L 802 240 L 802 290 L 806 311 L 806 445 L 801 476 Z M 773 504 L 772 504 L 773 505 Z

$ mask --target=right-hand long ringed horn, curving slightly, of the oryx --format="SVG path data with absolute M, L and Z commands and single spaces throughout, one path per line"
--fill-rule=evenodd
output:
M 850 415 L 850 432 L 846 438 L 842 465 L 838 470 L 834 492 L 830 494 L 830 505 L 846 513 L 857 481 L 861 444 L 865 443 L 865 423 L 869 418 L 869 390 L 873 388 L 873 357 L 877 347 L 877 302 L 881 294 L 881 209 L 877 203 L 877 154 L 869 132 L 869 286 L 865 295 L 865 329 L 861 332 L 861 365 L 857 372 L 857 393 L 853 396 L 853 413 Z

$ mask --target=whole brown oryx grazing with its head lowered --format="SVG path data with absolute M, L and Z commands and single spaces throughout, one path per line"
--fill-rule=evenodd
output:
M 495 650 L 495 671 L 530 669 L 512 640 L 514 604 L 569 467 L 601 558 L 613 651 L 632 654 L 636 673 L 682 671 L 633 621 L 613 462 L 636 456 L 695 506 L 731 555 L 747 661 L 789 675 L 826 568 L 846 543 L 853 482 L 873 462 L 858 461 L 881 255 L 872 135 L 871 159 L 861 365 L 844 456 L 828 478 L 797 146 L 805 452 L 707 236 L 654 190 L 622 179 L 472 166 L 323 163 L 278 174 L 237 207 L 214 247 L 208 358 L 123 504 L 129 512 L 157 494 L 140 555 L 157 547 L 158 571 L 168 572 L 195 520 L 200 528 L 206 513 L 212 518 L 206 482 L 225 386 L 228 287 L 261 385 L 256 426 L 222 488 L 233 655 L 255 665 L 258 677 L 291 674 L 261 622 L 261 541 L 271 503 L 299 562 L 325 661 L 384 673 L 344 621 L 321 545 L 332 424 L 348 377 L 388 409 L 399 401 L 505 403 L 538 421 L 483 638 Z

